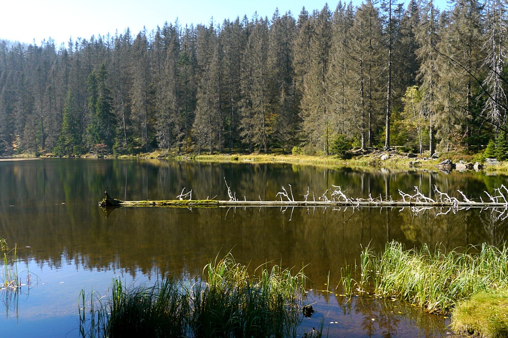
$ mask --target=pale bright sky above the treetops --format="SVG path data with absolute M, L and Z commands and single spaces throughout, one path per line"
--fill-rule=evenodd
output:
M 445 0 L 441 0 L 445 1 Z M 321 10 L 326 0 L 3 0 L 1 4 L 0 39 L 40 45 L 51 37 L 56 45 L 72 37 L 89 39 L 107 33 L 123 33 L 127 27 L 137 34 L 174 23 L 181 25 L 215 24 L 244 15 L 250 19 L 255 12 L 271 18 L 275 9 L 281 14 L 291 11 L 298 17 L 302 7 L 307 11 Z M 328 2 L 333 12 L 338 4 Z M 361 0 L 353 0 L 353 5 Z

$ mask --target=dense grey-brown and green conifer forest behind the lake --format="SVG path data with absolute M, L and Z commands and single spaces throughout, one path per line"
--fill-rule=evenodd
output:
M 506 6 L 365 0 L 0 41 L 0 156 L 478 151 L 506 142 Z

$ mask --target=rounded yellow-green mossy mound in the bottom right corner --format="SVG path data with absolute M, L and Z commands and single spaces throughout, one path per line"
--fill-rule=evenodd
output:
M 474 294 L 453 311 L 452 328 L 481 337 L 508 336 L 508 290 Z

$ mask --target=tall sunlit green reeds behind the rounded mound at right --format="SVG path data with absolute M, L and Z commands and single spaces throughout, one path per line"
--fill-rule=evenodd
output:
M 356 287 L 360 293 L 370 290 L 380 297 L 402 299 L 429 312 L 446 313 L 457 302 L 479 291 L 508 287 L 506 245 L 497 248 L 483 244 L 481 248 L 471 246 L 460 252 L 447 252 L 439 246 L 430 250 L 424 245 L 415 250 L 391 242 L 379 254 L 371 247 L 365 248 L 361 261 L 359 281 L 351 277 L 351 272 L 342 276 L 346 289 Z

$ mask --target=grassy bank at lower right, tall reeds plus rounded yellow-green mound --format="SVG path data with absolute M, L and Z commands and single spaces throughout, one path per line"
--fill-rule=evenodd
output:
M 392 242 L 379 254 L 371 248 L 363 250 L 359 268 L 358 280 L 353 279 L 355 271 L 351 268 L 342 270 L 342 284 L 348 294 L 372 292 L 378 297 L 407 301 L 428 312 L 453 312 L 454 328 L 461 333 L 507 336 L 506 245 L 497 248 L 484 244 L 481 248 L 447 252 L 439 247 L 430 250 L 425 245 L 421 250 L 406 249 Z M 487 329 L 482 320 L 490 317 L 495 325 Z

